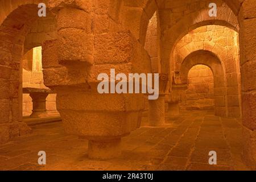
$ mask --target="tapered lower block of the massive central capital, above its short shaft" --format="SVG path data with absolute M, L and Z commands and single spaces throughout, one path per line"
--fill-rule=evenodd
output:
M 138 114 L 144 109 L 143 97 L 139 95 L 73 92 L 59 93 L 56 99 L 65 130 L 92 139 L 129 134 L 136 129 Z M 138 105 L 138 100 L 141 100 L 141 105 Z

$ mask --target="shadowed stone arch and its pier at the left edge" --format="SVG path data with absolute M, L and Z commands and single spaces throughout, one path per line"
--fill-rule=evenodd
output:
M 43 2 L 47 3 L 47 1 Z M 4 85 L 1 90 L 1 102 L 4 103 L 5 109 L 1 110 L 0 115 L 3 116 L 3 123 L 6 127 L 10 128 L 10 125 L 16 126 L 16 122 L 22 121 L 22 64 L 20 64 L 20 61 L 24 50 L 26 50 L 24 44 L 28 40 L 27 35 L 31 32 L 31 28 L 39 19 L 39 16 L 38 3 L 34 1 L 1 1 L 1 3 L 5 5 L 3 6 L 5 11 L 1 10 L 1 13 L 4 12 L 4 14 L 1 15 L 0 20 L 0 69 L 2 72 L 1 82 Z M 54 19 L 54 16 L 48 10 L 47 15 L 48 18 Z M 47 23 L 42 24 L 45 27 L 46 25 Z M 44 32 L 44 29 L 42 32 Z M 44 39 L 46 37 L 42 36 L 42 42 Z M 39 40 L 37 42 L 37 45 L 42 44 L 42 42 L 39 43 Z M 6 94 L 3 94 L 5 92 Z M 15 136 L 5 136 L 4 142 Z

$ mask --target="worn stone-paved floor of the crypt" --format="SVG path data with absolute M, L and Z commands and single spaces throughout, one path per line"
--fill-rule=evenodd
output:
M 122 156 L 88 159 L 87 140 L 64 133 L 61 122 L 32 127 L 33 133 L 0 146 L 0 170 L 245 170 L 241 119 L 220 118 L 212 111 L 166 114 L 166 126 L 142 127 L 122 139 Z M 217 152 L 217 166 L 208 164 Z M 39 166 L 38 151 L 46 151 Z

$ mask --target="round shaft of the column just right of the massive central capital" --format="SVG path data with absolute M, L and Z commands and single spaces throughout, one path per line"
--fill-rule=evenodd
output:
M 164 125 L 165 95 L 159 95 L 157 100 L 148 100 L 148 123 L 150 126 Z

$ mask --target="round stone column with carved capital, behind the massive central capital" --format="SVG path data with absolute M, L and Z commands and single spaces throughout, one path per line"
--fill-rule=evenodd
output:
M 150 126 L 164 125 L 167 82 L 168 75 L 159 74 L 159 97 L 157 100 L 148 100 L 148 123 Z

